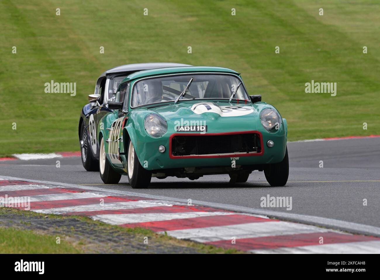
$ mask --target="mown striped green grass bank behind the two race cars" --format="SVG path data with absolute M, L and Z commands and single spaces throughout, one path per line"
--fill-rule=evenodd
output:
M 98 76 L 137 62 L 241 72 L 249 93 L 287 118 L 290 141 L 380 134 L 377 0 L 238 2 L 2 0 L 0 156 L 79 150 L 79 114 Z M 51 80 L 76 82 L 76 96 L 45 93 Z M 336 82 L 337 95 L 305 93 L 311 80 Z

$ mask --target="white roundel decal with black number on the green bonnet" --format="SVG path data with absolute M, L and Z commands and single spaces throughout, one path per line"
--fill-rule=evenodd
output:
M 194 104 L 191 109 L 195 114 L 203 114 L 206 112 L 217 113 L 221 117 L 237 117 L 248 115 L 253 112 L 252 106 L 219 106 L 214 102 L 201 102 Z

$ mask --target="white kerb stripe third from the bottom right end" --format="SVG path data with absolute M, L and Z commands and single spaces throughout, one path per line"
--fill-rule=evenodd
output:
M 239 214 L 239 213 L 236 213 Z M 231 215 L 230 212 L 182 212 L 182 213 L 144 213 L 144 214 L 105 214 L 91 216 L 92 219 L 112 225 L 131 224 L 135 222 L 168 221 L 204 216 Z

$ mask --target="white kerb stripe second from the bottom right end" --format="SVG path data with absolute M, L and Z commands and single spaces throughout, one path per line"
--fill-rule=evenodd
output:
M 190 239 L 196 242 L 214 242 L 219 240 L 255 238 L 272 235 L 304 234 L 328 232 L 320 227 L 296 224 L 293 222 L 252 222 L 231 226 L 204 227 L 195 229 L 169 230 L 167 234 L 178 239 Z M 159 232 L 163 233 L 163 232 Z M 316 240 L 315 242 L 318 242 Z

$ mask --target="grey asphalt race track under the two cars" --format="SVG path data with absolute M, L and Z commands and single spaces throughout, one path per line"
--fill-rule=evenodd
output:
M 231 186 L 228 175 L 152 178 L 149 189 L 132 189 L 122 176 L 117 185 L 105 185 L 98 172 L 84 170 L 80 157 L 0 162 L 0 177 L 62 182 L 102 190 L 135 192 L 280 211 L 380 226 L 380 138 L 288 143 L 290 174 L 284 187 L 271 187 L 263 172 L 254 171 L 246 183 Z M 60 161 L 60 168 L 56 161 Z M 323 168 L 320 168 L 323 161 Z M 261 208 L 261 197 L 292 197 L 292 210 Z M 367 206 L 363 206 L 363 199 Z M 257 211 L 256 211 L 257 212 Z M 278 212 L 276 212 L 278 213 Z M 259 213 L 260 214 L 260 213 Z M 323 223 L 322 223 L 323 224 Z

